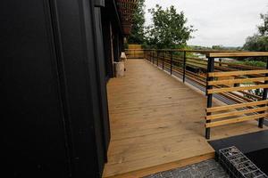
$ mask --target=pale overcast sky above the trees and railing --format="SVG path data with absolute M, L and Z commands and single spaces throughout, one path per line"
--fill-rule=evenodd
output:
M 259 25 L 261 12 L 268 12 L 267 0 L 146 0 L 146 20 L 151 21 L 147 9 L 160 4 L 164 8 L 174 5 L 183 11 L 188 25 L 197 32 L 188 44 L 211 46 L 241 46 Z

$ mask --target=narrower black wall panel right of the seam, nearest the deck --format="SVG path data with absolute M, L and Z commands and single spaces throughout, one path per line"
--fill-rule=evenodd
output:
M 105 135 L 95 41 L 94 4 L 88 0 L 57 0 L 67 101 L 73 139 L 74 176 L 96 177 L 105 164 Z M 101 64 L 103 65 L 103 64 Z M 100 76 L 102 75 L 102 76 Z

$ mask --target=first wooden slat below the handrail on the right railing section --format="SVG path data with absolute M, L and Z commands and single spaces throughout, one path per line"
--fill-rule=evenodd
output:
M 230 71 L 230 72 L 211 72 L 208 73 L 208 77 L 230 77 L 230 76 L 245 76 L 253 74 L 266 74 L 268 69 L 257 69 L 257 70 L 241 70 L 241 71 Z

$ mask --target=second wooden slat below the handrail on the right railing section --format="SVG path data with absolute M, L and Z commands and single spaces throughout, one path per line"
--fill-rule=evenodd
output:
M 208 85 L 233 85 L 243 84 L 249 82 L 263 82 L 268 80 L 268 77 L 253 77 L 253 78 L 242 78 L 242 79 L 228 79 L 228 80 L 214 80 L 209 81 Z

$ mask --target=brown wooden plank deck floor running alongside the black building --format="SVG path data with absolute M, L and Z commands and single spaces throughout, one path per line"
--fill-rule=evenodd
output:
M 103 176 L 142 177 L 214 158 L 204 94 L 144 60 L 129 60 L 126 69 L 108 83 L 112 140 Z M 211 138 L 259 130 L 248 121 L 213 128 Z

